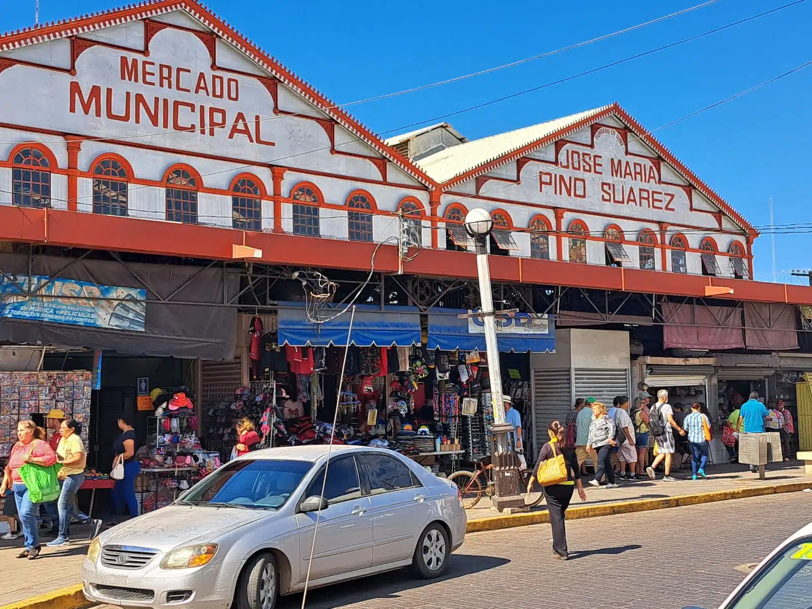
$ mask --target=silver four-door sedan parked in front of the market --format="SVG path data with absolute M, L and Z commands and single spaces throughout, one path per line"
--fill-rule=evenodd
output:
M 170 506 L 102 533 L 82 565 L 85 596 L 120 607 L 272 609 L 305 581 L 408 566 L 440 576 L 464 540 L 456 486 L 366 447 L 333 447 L 325 480 L 328 449 L 248 453 Z

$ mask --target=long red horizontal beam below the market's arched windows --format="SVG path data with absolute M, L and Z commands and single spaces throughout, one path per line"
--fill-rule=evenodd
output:
M 205 260 L 231 260 L 232 246 L 239 244 L 261 249 L 261 258 L 252 260 L 268 264 L 348 270 L 369 270 L 377 247 L 376 244 L 356 241 L 236 231 L 9 205 L 0 205 L 0 240 Z M 380 273 L 397 273 L 397 248 L 394 245 L 379 247 L 374 268 Z M 477 262 L 471 253 L 423 249 L 413 261 L 404 262 L 403 270 L 404 273 L 431 277 L 475 279 Z M 491 256 L 490 274 L 495 281 L 502 282 L 696 298 L 705 296 L 706 286 L 731 287 L 732 294 L 719 298 L 812 305 L 812 287 L 654 270 Z

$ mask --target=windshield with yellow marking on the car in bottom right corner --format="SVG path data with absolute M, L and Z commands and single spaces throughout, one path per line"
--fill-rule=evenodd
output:
M 731 609 L 812 609 L 812 537 L 775 555 L 741 591 Z

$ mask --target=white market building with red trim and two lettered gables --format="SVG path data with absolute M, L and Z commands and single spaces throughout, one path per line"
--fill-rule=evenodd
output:
M 344 435 L 408 443 L 389 425 L 405 402 L 461 440 L 449 456 L 486 452 L 484 338 L 459 317 L 478 306 L 474 207 L 498 228 L 495 300 L 520 311 L 498 380 L 530 456 L 577 396 L 685 388 L 720 419 L 728 387 L 794 398 L 812 370 L 812 288 L 753 281 L 758 231 L 617 104 L 480 140 L 447 123 L 382 140 L 204 6 L 157 0 L 0 37 L 0 107 L 0 340 L 41 353 L 20 372 L 96 370 L 101 468 L 119 415 L 166 436 L 145 388 L 185 388 L 182 430 L 222 454 L 227 411 L 250 401 L 235 391 L 259 418 L 275 382 L 294 414 L 341 409 Z M 329 364 L 347 316 L 312 320 L 328 292 L 362 304 L 350 389 Z M 794 411 L 807 447 L 809 408 Z

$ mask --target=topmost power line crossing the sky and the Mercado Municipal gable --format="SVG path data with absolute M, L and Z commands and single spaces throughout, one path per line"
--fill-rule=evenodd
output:
M 608 39 L 610 39 L 612 37 L 620 36 L 621 34 L 625 34 L 625 33 L 628 33 L 628 32 L 633 32 L 633 31 L 635 31 L 637 29 L 645 28 L 648 25 L 658 24 L 658 23 L 660 23 L 662 21 L 666 21 L 667 19 L 672 19 L 673 17 L 678 17 L 680 15 L 685 15 L 685 14 L 687 14 L 689 12 L 697 11 L 698 9 L 705 8 L 706 6 L 711 6 L 711 4 L 715 4 L 715 3 L 720 2 L 720 1 L 721 0 L 709 0 L 708 2 L 702 2 L 701 4 L 698 4 L 698 5 L 695 5 L 695 6 L 690 6 L 689 8 L 683 9 L 682 11 L 676 11 L 674 13 L 671 13 L 669 15 L 663 15 L 662 17 L 658 17 L 656 19 L 650 19 L 649 21 L 645 21 L 645 22 L 643 22 L 641 24 L 633 25 L 633 26 L 628 27 L 628 28 L 623 28 L 623 29 L 620 29 L 620 30 L 618 30 L 616 32 L 611 32 L 609 34 L 603 34 L 602 36 L 599 36 L 599 37 L 596 37 L 596 38 L 590 38 L 590 40 L 587 40 L 587 41 L 577 42 L 577 43 L 572 44 L 572 45 L 564 46 L 564 47 L 561 47 L 560 49 L 551 50 L 551 51 L 547 51 L 546 53 L 533 55 L 532 57 L 519 59 L 519 60 L 517 60 L 515 62 L 504 63 L 501 66 L 489 67 L 489 68 L 486 68 L 485 70 L 471 72 L 469 74 L 464 74 L 462 76 L 455 76 L 453 78 L 449 78 L 449 79 L 446 79 L 446 80 L 438 80 L 438 81 L 436 81 L 434 83 L 422 84 L 422 85 L 417 86 L 417 87 L 412 87 L 410 89 L 403 89 L 401 91 L 395 91 L 393 93 L 383 93 L 382 95 L 377 95 L 377 96 L 374 96 L 374 97 L 365 97 L 364 99 L 359 99 L 359 100 L 356 100 L 355 102 L 347 102 L 347 103 L 343 103 L 343 104 L 335 104 L 333 106 L 325 106 L 324 108 L 317 108 L 317 109 L 314 109 L 314 110 L 308 110 L 307 112 L 297 112 L 296 115 L 298 115 L 298 116 L 306 116 L 306 115 L 309 115 L 309 114 L 321 114 L 325 110 L 336 110 L 336 109 L 340 110 L 341 108 L 346 108 L 348 106 L 358 106 L 360 104 L 365 104 L 365 103 L 368 103 L 368 102 L 377 102 L 378 100 L 382 100 L 382 99 L 389 99 L 391 97 L 399 97 L 400 95 L 407 95 L 408 93 L 417 93 L 418 91 L 424 91 L 426 89 L 434 89 L 434 87 L 439 87 L 439 86 L 442 86 L 444 84 L 451 84 L 451 83 L 459 82 L 460 80 L 467 80 L 467 79 L 473 78 L 475 76 L 482 76 L 482 75 L 485 75 L 485 74 L 490 74 L 491 72 L 504 70 L 504 69 L 507 69 L 509 67 L 519 66 L 519 65 L 521 65 L 523 63 L 529 63 L 529 62 L 536 61 L 538 59 L 551 57 L 551 56 L 556 55 L 556 54 L 564 53 L 565 51 L 568 51 L 568 50 L 580 49 L 583 46 L 591 45 L 591 44 L 594 44 L 595 42 L 608 40 Z M 261 123 L 261 122 L 264 122 L 266 120 L 276 120 L 276 119 L 285 119 L 285 118 L 288 118 L 288 116 L 287 115 L 265 116 L 265 117 L 261 116 L 261 118 L 259 119 L 259 122 Z M 223 128 L 225 128 L 225 127 L 233 127 L 235 124 L 236 123 L 227 123 L 226 125 L 223 125 Z M 131 140 L 131 139 L 136 140 L 136 139 L 140 139 L 140 138 L 143 138 L 143 137 L 158 137 L 158 136 L 171 135 L 171 134 L 174 134 L 174 133 L 177 133 L 177 132 L 176 131 L 166 131 L 166 132 L 149 133 L 149 134 L 139 133 L 139 134 L 136 134 L 136 135 L 123 136 L 123 137 L 119 137 L 119 138 L 116 138 L 116 139 L 117 140 Z M 88 138 L 84 138 L 84 141 L 103 141 L 103 140 L 106 140 L 106 139 L 109 139 L 109 138 L 106 138 L 106 137 L 88 137 Z M 361 138 L 359 138 L 359 139 L 361 139 Z M 45 141 L 41 141 L 39 143 L 40 144 L 62 144 L 63 142 L 64 142 L 64 140 L 52 140 L 52 141 L 45 140 Z M 0 142 L 0 145 L 15 145 L 15 144 L 18 144 L 18 143 L 19 142 Z

